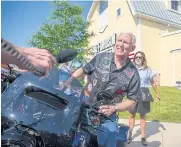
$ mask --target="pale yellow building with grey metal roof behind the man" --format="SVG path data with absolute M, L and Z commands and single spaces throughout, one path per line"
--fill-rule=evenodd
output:
M 181 77 L 181 1 L 94 1 L 87 20 L 95 53 L 114 51 L 116 34 L 132 32 L 135 51 L 145 52 L 160 85 L 175 86 Z

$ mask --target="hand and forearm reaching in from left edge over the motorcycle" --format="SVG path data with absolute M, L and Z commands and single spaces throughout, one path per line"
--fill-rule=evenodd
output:
M 1 61 L 4 64 L 15 64 L 39 76 L 47 75 L 56 64 L 55 58 L 46 49 L 14 46 L 3 38 L 1 38 Z

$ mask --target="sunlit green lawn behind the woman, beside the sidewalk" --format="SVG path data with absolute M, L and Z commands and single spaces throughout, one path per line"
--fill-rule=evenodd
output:
M 150 88 L 153 97 L 155 93 Z M 158 120 L 162 122 L 181 123 L 181 90 L 171 87 L 159 87 L 161 101 L 155 100 L 151 103 L 151 112 L 147 115 L 147 120 Z M 120 118 L 129 118 L 128 112 L 119 112 Z M 139 119 L 139 114 L 136 115 Z

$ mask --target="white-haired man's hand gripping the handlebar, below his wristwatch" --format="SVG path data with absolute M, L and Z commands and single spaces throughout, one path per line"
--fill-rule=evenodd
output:
M 102 113 L 106 116 L 110 116 L 115 112 L 114 106 L 104 105 L 99 107 L 99 113 Z

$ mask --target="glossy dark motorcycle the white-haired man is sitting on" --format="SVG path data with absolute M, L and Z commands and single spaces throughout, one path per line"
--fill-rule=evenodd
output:
M 97 126 L 102 118 L 111 118 L 84 102 L 84 87 L 78 80 L 73 79 L 62 90 L 57 88 L 60 73 L 70 76 L 57 68 L 42 78 L 26 72 L 2 93 L 2 147 L 98 147 Z M 100 104 L 110 98 L 104 91 L 97 95 Z M 87 110 L 91 124 L 83 120 Z M 119 126 L 117 147 L 126 146 L 128 129 Z

